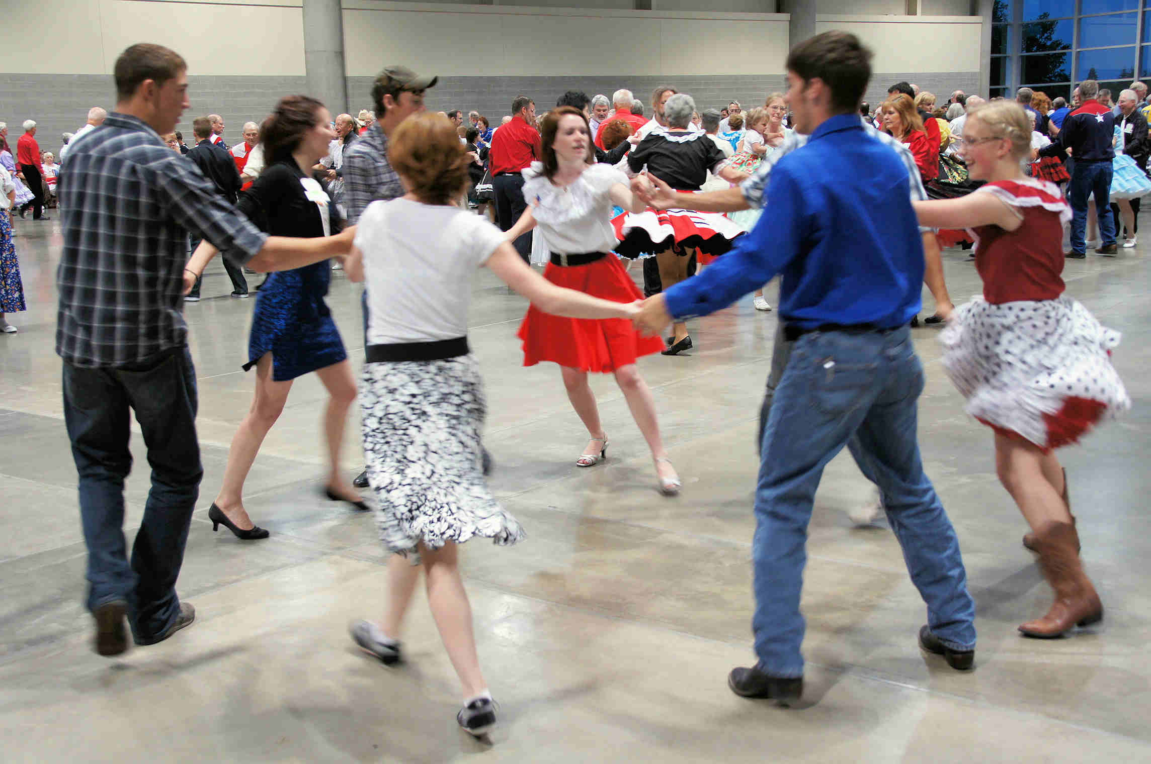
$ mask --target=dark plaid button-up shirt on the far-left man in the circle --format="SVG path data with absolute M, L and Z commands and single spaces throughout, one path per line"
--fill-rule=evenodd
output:
M 185 344 L 189 231 L 237 262 L 267 238 L 195 163 L 127 114 L 109 114 L 68 152 L 59 194 L 56 353 L 75 366 L 135 364 Z

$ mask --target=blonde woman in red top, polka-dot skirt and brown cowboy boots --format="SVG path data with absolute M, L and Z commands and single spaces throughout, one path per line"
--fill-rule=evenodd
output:
M 967 227 L 975 236 L 983 297 L 955 308 L 940 337 L 944 368 L 968 413 L 994 431 L 999 480 L 1031 526 L 1023 545 L 1038 552 L 1055 590 L 1047 614 L 1019 631 L 1055 637 L 1102 620 L 1103 604 L 1080 563 L 1067 475 L 1052 451 L 1130 399 L 1110 360 L 1119 334 L 1062 295 L 1070 208 L 1057 185 L 1023 175 L 1030 143 L 1017 104 L 973 109 L 963 154 L 970 176 L 986 185 L 915 209 L 923 226 Z

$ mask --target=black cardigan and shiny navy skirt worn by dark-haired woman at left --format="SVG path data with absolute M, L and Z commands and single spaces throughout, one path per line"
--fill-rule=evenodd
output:
M 241 196 L 238 207 L 273 236 L 330 236 L 344 223 L 322 186 L 291 159 L 267 168 Z M 268 276 L 256 298 L 245 372 L 268 352 L 276 382 L 295 380 L 348 358 L 323 299 L 330 281 L 327 260 Z

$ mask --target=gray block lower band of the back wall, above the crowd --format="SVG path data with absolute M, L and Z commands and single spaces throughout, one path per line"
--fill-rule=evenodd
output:
M 872 106 L 878 104 L 891 84 L 906 79 L 930 90 L 942 102 L 955 89 L 975 92 L 978 78 L 977 71 L 881 72 L 871 77 L 867 100 Z M 493 124 L 498 124 L 500 117 L 511 108 L 512 99 L 520 93 L 534 98 L 542 112 L 551 107 L 556 98 L 566 90 L 582 90 L 588 96 L 604 93 L 610 98 L 612 92 L 625 86 L 646 104 L 651 90 L 664 83 L 691 93 L 703 108 L 726 106 L 733 98 L 745 107 L 759 105 L 767 93 L 784 87 L 782 75 L 442 77 L 428 91 L 427 106 L 437 112 L 475 109 L 491 120 Z M 277 99 L 305 90 L 304 77 L 192 77 L 192 106 L 177 129 L 183 131 L 185 142 L 192 143 L 192 120 L 215 112 L 224 119 L 224 137 L 229 145 L 235 144 L 241 140 L 244 122 L 259 122 Z M 361 108 L 371 108 L 372 78 L 349 77 L 348 97 L 353 114 Z M 102 106 L 110 109 L 114 100 L 109 76 L 0 74 L 0 121 L 8 123 L 8 138 L 13 150 L 22 135 L 20 124 L 32 119 L 39 125 L 37 140 L 40 147 L 59 153 L 61 132 L 74 132 L 83 125 L 89 107 Z M 650 110 L 646 112 L 650 116 Z

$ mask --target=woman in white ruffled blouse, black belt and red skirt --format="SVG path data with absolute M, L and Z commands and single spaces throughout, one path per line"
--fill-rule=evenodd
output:
M 539 227 L 538 235 L 551 252 L 544 278 L 615 301 L 643 299 L 619 259 L 611 254 L 616 244 L 612 205 L 645 209 L 643 203 L 632 196 L 627 176 L 595 163 L 587 115 L 579 109 L 563 106 L 551 110 L 543 119 L 541 133 L 543 161 L 524 170 L 528 206 L 508 231 L 508 240 Z M 535 305 L 528 307 L 519 337 L 524 341 L 524 366 L 540 361 L 559 365 L 567 398 L 590 436 L 577 466 L 590 467 L 607 458 L 608 435 L 600 423 L 587 375 L 611 372 L 651 449 L 660 490 L 666 495 L 679 492 L 679 475 L 660 437 L 651 391 L 635 367 L 640 356 L 663 350 L 658 337 L 640 336 L 626 319 L 564 319 L 543 313 Z

